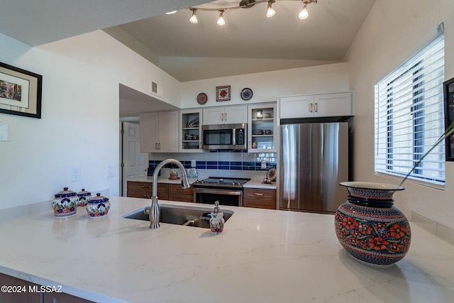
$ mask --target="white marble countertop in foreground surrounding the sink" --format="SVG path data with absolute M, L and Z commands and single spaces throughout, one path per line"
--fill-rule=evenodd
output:
M 0 272 L 95 302 L 452 302 L 454 246 L 411 224 L 404 260 L 363 265 L 336 238 L 333 215 L 223 206 L 223 233 L 125 219 L 149 199 L 54 218 L 0 222 Z M 160 201 L 160 204 L 209 207 Z

